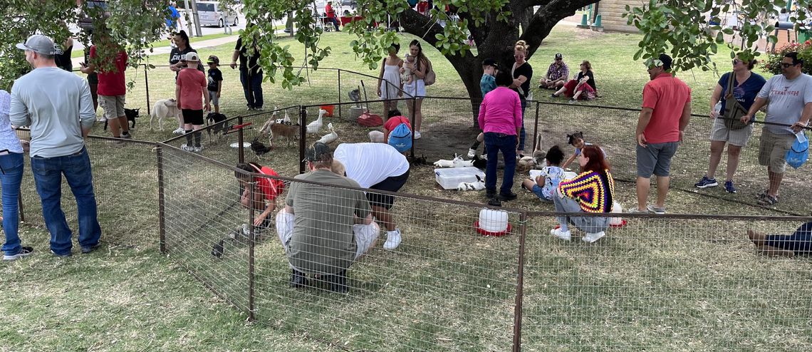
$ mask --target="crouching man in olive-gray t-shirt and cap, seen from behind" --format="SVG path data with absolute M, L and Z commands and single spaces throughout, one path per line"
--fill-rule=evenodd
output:
M 347 292 L 347 268 L 375 246 L 380 228 L 372 221 L 372 210 L 358 183 L 330 170 L 330 147 L 317 142 L 306 159 L 310 172 L 292 182 L 285 209 L 276 216 L 279 240 L 293 267 L 291 285 L 308 286 L 304 274 L 321 275 L 330 290 Z M 357 221 L 356 221 L 357 220 Z M 356 224 L 361 222 L 361 224 Z

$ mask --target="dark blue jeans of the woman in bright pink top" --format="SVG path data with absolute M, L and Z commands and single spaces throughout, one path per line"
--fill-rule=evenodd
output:
M 485 133 L 485 148 L 488 155 L 488 164 L 485 169 L 485 189 L 496 190 L 496 161 L 499 151 L 505 159 L 504 180 L 499 193 L 508 194 L 513 188 L 513 175 L 516 174 L 516 135 L 504 133 Z

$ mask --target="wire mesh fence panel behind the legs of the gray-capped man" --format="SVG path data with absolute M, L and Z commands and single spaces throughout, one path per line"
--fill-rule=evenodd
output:
M 158 238 L 158 166 L 154 143 L 90 136 L 85 140 L 93 172 L 102 241 L 124 246 L 155 246 Z M 26 155 L 20 186 L 21 215 L 32 226 L 45 228 L 42 203 Z M 76 198 L 63 177 L 62 209 L 78 234 Z M 21 218 L 22 219 L 22 218 Z M 78 237 L 77 237 L 78 238 Z

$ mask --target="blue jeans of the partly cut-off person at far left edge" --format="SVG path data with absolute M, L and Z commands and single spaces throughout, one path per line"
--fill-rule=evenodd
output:
M 6 232 L 6 243 L 2 245 L 3 253 L 19 253 L 19 184 L 23 181 L 23 154 L 9 153 L 0 155 L 2 168 L 2 229 Z

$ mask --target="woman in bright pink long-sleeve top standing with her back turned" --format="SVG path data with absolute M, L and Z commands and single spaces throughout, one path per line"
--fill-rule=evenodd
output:
M 500 71 L 496 75 L 496 89 L 482 99 L 479 106 L 479 127 L 485 133 L 485 147 L 488 151 L 488 166 L 485 171 L 485 189 L 488 198 L 499 201 L 516 199 L 513 193 L 513 175 L 516 173 L 516 145 L 522 125 L 519 94 L 509 89 L 513 83 L 510 72 Z M 499 151 L 505 160 L 504 179 L 499 196 L 496 195 L 496 161 Z

